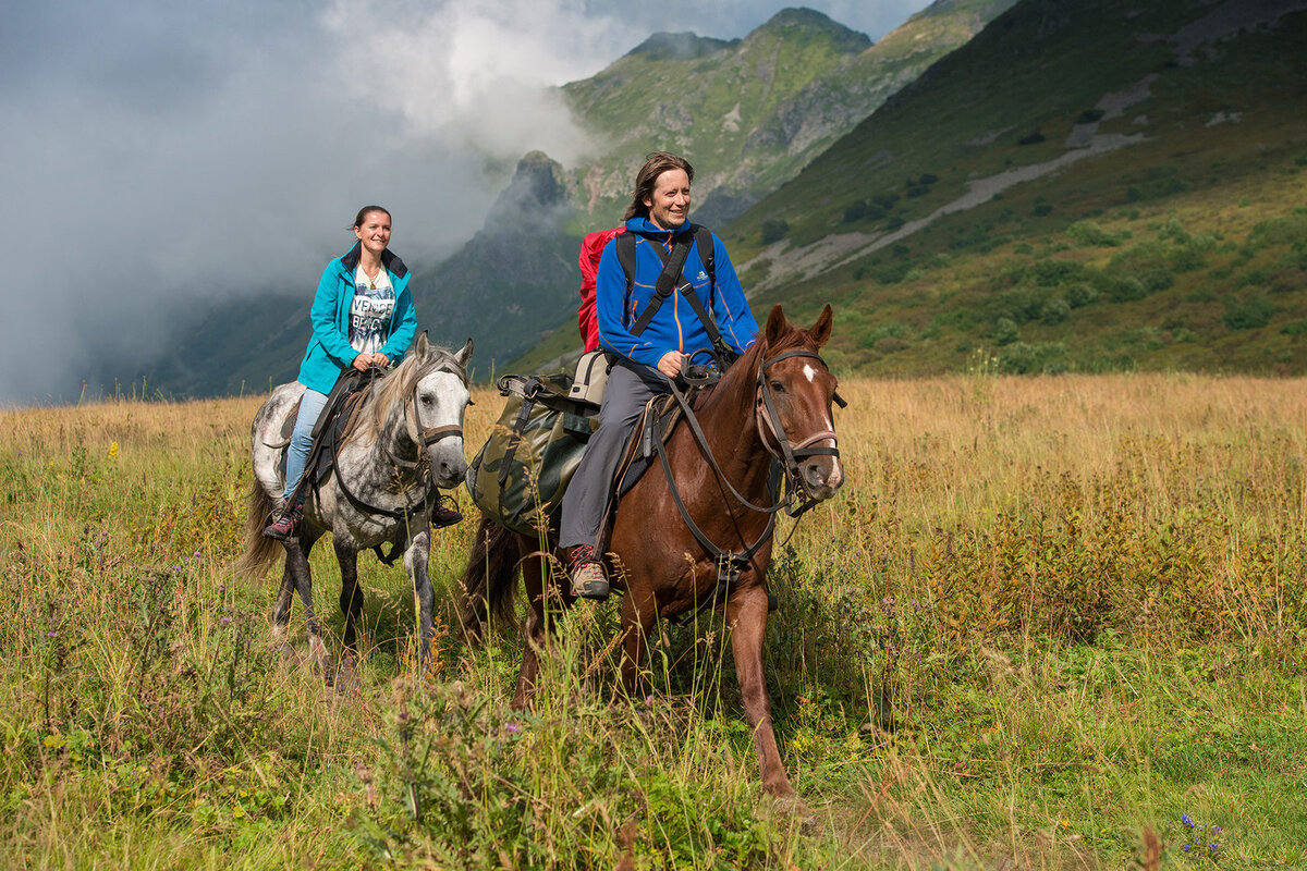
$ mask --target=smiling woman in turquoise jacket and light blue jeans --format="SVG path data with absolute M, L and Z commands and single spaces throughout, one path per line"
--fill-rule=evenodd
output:
M 352 368 L 366 372 L 397 363 L 417 330 L 408 266 L 388 248 L 391 213 L 378 205 L 363 206 L 352 229 L 358 242 L 327 264 L 308 312 L 314 334 L 297 379 L 305 385 L 305 397 L 286 452 L 281 509 L 263 530 L 268 538 L 286 539 L 299 529 L 305 504 L 299 479 L 308 462 L 314 424 L 336 381 Z

